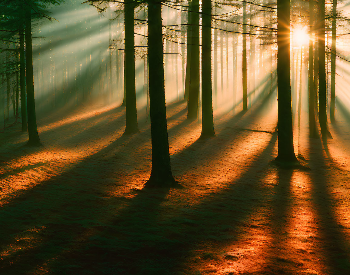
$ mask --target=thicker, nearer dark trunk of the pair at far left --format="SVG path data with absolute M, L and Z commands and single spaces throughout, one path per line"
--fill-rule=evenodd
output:
M 34 76 L 33 76 L 33 51 L 31 46 L 31 14 L 26 7 L 26 82 L 27 82 L 27 107 L 28 107 L 28 136 L 27 145 L 40 146 L 40 138 L 36 126 Z

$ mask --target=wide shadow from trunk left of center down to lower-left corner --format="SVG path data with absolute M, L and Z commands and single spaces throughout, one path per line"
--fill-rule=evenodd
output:
M 0 228 L 2 252 L 12 246 L 14 237 L 19 240 L 16 244 L 23 245 L 21 250 L 10 255 L 16 261 L 1 261 L 2 274 L 29 274 L 33 266 L 55 258 L 61 249 L 74 242 L 77 235 L 98 224 L 99 218 L 108 210 L 103 202 L 103 187 L 107 183 L 123 186 L 113 179 L 120 174 L 111 151 L 127 139 L 121 136 L 97 154 L 19 194 L 2 207 L 0 219 L 6 224 Z M 109 177 L 113 180 L 107 181 Z M 37 232 L 39 227 L 43 229 L 42 234 Z M 26 247 L 27 238 L 33 241 L 31 247 Z

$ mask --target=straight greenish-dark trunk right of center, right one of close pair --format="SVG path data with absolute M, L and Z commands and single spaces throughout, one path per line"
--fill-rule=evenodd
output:
M 215 135 L 211 91 L 211 0 L 202 0 L 202 133 Z M 226 38 L 227 43 L 227 38 Z

